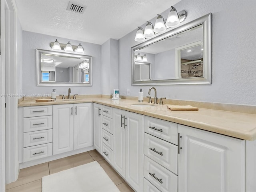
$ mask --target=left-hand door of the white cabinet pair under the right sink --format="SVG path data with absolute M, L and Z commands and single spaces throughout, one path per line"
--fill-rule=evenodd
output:
M 113 108 L 113 131 L 114 131 L 114 156 L 113 166 L 118 173 L 125 177 L 125 129 L 121 122 L 124 122 L 124 110 Z

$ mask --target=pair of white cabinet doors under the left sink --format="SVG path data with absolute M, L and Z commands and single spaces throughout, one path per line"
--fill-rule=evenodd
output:
M 92 104 L 53 106 L 53 154 L 92 146 Z

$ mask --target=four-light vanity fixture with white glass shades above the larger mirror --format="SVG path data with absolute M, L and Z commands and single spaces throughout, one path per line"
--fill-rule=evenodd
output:
M 171 6 L 171 10 L 168 14 L 166 22 L 164 22 L 164 18 L 162 15 L 157 15 L 158 17 L 156 18 L 154 26 L 152 25 L 152 23 L 147 21 L 145 32 L 142 27 L 138 27 L 134 39 L 135 41 L 142 42 L 145 40 L 145 38 L 151 38 L 154 37 L 156 33 L 164 32 L 166 28 L 178 26 L 186 19 L 187 12 L 185 10 L 182 10 L 177 13 L 177 10 L 173 6 Z M 151 28 L 153 28 L 153 31 L 151 30 Z

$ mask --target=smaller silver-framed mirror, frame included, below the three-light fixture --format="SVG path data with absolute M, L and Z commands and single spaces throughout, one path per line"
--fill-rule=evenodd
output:
M 92 86 L 92 56 L 36 49 L 37 86 Z

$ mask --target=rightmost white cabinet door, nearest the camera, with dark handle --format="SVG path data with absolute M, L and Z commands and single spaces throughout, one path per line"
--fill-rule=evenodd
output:
M 244 140 L 178 125 L 179 192 L 245 191 Z

